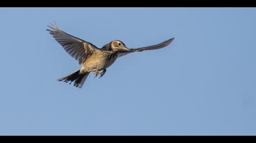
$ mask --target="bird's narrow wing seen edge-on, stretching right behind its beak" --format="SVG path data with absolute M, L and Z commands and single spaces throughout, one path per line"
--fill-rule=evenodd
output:
M 169 45 L 173 40 L 174 40 L 174 38 L 171 38 L 171 39 L 168 39 L 168 40 L 166 40 L 162 43 L 156 44 L 156 45 L 151 45 L 151 46 L 141 47 L 141 48 L 130 48 L 129 51 L 120 51 L 118 53 L 118 57 L 127 55 L 129 53 L 133 53 L 133 52 L 143 52 L 144 50 L 155 50 L 158 48 L 163 48 L 163 47 L 166 47 L 167 45 Z

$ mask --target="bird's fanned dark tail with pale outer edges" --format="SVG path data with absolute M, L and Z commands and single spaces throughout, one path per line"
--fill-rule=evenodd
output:
M 64 76 L 63 78 L 58 79 L 58 81 L 63 81 L 66 83 L 70 81 L 69 84 L 71 84 L 74 81 L 74 87 L 82 88 L 90 72 L 82 74 L 82 73 L 79 73 L 79 71 L 80 69 L 77 71 L 74 71 L 69 75 Z

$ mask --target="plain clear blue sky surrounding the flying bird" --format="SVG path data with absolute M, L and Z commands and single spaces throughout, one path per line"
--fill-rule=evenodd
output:
M 0 8 L 0 135 L 256 135 L 256 8 Z M 84 87 L 49 22 L 119 58 Z

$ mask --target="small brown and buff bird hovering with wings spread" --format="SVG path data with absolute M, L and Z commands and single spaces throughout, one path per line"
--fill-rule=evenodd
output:
M 49 34 L 51 34 L 55 41 L 62 45 L 64 50 L 76 59 L 81 66 L 78 70 L 63 78 L 57 79 L 57 81 L 69 82 L 69 84 L 74 82 L 74 87 L 78 88 L 82 88 L 90 72 L 94 72 L 95 77 L 99 75 L 99 78 L 102 78 L 107 68 L 110 67 L 117 58 L 133 52 L 163 48 L 174 40 L 174 38 L 171 38 L 160 44 L 140 48 L 127 48 L 122 41 L 113 40 L 105 44 L 102 48 L 98 48 L 90 42 L 63 32 L 55 23 L 48 25 L 48 27 L 51 28 L 46 29 Z

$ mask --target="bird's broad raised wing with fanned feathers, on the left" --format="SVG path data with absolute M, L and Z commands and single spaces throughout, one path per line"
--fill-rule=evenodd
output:
M 82 64 L 87 58 L 89 58 L 94 50 L 98 50 L 98 48 L 90 42 L 63 32 L 56 24 L 51 24 L 51 26 L 48 25 L 48 27 L 50 27 L 51 30 L 46 30 L 57 42 L 59 42 L 60 45 L 62 45 L 70 56 L 79 61 L 79 64 Z

